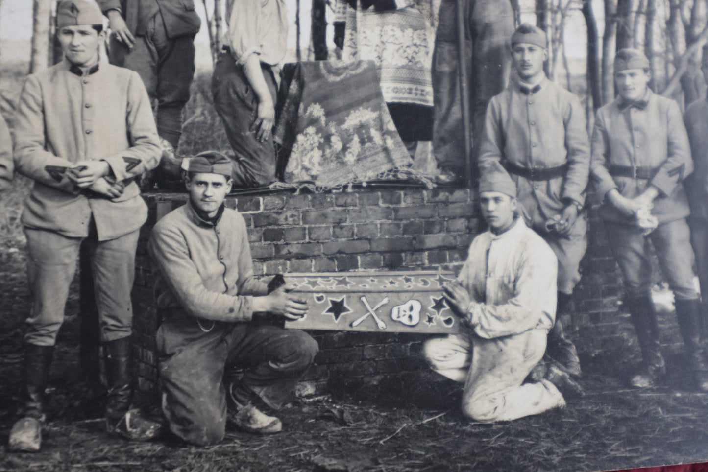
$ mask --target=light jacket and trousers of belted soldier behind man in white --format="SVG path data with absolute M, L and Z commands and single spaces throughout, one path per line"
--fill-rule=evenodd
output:
M 578 215 L 568 238 L 549 233 L 545 224 L 569 202 L 585 202 L 590 145 L 580 100 L 546 78 L 531 91 L 513 83 L 492 98 L 479 151 L 481 175 L 507 173 L 503 161 L 526 169 L 567 165 L 564 173 L 548 180 L 509 175 L 527 224 L 556 253 L 559 291 L 571 294 L 580 281 L 578 267 L 587 248 L 586 218 Z

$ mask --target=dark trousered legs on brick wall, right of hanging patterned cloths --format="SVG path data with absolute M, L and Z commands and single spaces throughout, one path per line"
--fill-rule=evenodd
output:
M 462 99 L 457 62 L 457 0 L 442 0 L 433 50 L 433 154 L 440 183 L 464 180 L 465 156 Z M 472 116 L 472 169 L 489 100 L 503 91 L 509 78 L 509 38 L 514 15 L 508 0 L 463 0 L 464 54 L 467 57 L 469 110 Z

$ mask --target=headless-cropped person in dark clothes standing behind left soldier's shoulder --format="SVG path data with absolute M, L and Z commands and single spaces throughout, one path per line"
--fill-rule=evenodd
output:
M 201 20 L 194 0 L 96 0 L 108 16 L 110 63 L 140 74 L 164 149 L 156 180 L 162 187 L 181 179 L 175 159 L 182 110 L 194 78 L 194 37 Z

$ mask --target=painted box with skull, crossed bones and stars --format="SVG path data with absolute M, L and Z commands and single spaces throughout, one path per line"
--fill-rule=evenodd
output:
M 313 272 L 287 274 L 309 311 L 286 328 L 457 333 L 459 318 L 442 297 L 452 272 Z

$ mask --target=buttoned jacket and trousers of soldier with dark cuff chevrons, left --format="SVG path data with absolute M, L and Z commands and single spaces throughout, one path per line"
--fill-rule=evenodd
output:
M 34 294 L 25 341 L 35 345 L 55 343 L 86 236 L 101 337 L 131 332 L 137 230 L 147 218 L 133 178 L 157 165 L 160 149 L 139 76 L 109 64 L 88 72 L 82 76 L 65 59 L 28 76 L 16 113 L 16 171 L 35 181 L 21 219 Z M 85 159 L 106 161 L 126 184 L 122 195 L 108 200 L 79 191 L 62 168 Z

